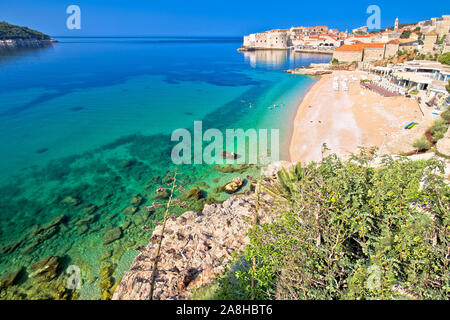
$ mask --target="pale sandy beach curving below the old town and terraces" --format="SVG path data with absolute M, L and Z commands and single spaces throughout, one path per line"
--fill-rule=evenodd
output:
M 358 80 L 351 80 L 351 75 Z M 333 78 L 339 77 L 339 91 L 333 90 Z M 348 91 L 342 89 L 342 77 L 348 79 Z M 298 107 L 290 142 L 291 161 L 310 163 L 326 154 L 340 156 L 358 152 L 361 147 L 376 146 L 382 153 L 413 150 L 411 139 L 418 137 L 432 122 L 430 110 L 406 97 L 382 97 L 360 85 L 365 72 L 335 71 L 323 76 L 306 94 Z M 411 122 L 420 125 L 412 130 L 404 127 Z

